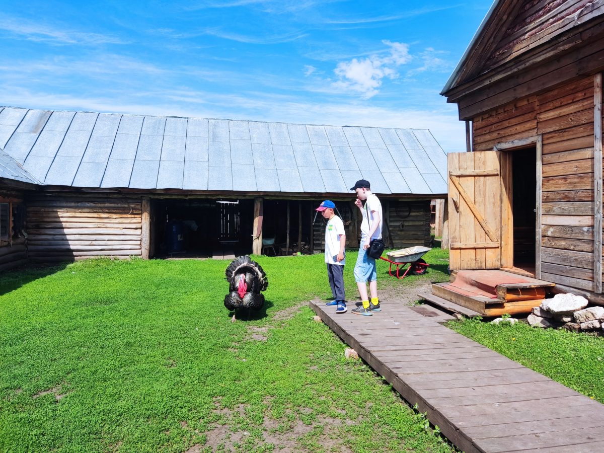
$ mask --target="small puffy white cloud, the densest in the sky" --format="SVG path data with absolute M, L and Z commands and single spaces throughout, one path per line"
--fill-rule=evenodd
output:
M 401 42 L 382 41 L 390 47 L 387 54 L 374 54 L 367 58 L 353 58 L 349 62 L 340 62 L 333 70 L 338 80 L 333 82 L 335 88 L 361 94 L 368 99 L 379 92 L 382 79 L 396 79 L 397 68 L 410 62 L 409 45 Z

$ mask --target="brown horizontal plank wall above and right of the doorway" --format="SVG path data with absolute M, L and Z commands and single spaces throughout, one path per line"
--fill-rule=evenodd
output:
M 474 118 L 474 149 L 542 135 L 542 274 L 594 286 L 594 78 Z M 597 251 L 601 253 L 601 251 Z

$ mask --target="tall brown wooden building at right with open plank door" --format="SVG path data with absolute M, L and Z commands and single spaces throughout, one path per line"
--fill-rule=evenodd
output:
M 602 296 L 604 2 L 495 1 L 443 89 L 451 269 L 507 269 Z

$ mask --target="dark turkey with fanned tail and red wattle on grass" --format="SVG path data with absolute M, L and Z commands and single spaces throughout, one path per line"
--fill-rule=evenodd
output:
M 260 292 L 268 288 L 268 278 L 262 266 L 245 255 L 234 259 L 225 273 L 229 283 L 229 294 L 225 296 L 226 308 L 231 312 L 246 308 L 248 315 L 249 310 L 262 308 L 264 295 Z

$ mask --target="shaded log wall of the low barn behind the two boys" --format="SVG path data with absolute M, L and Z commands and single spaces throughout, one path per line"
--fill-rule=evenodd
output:
M 382 230 L 382 236 L 387 247 L 395 249 L 411 247 L 414 245 L 431 246 L 430 236 L 430 201 L 391 201 L 381 199 L 382 216 L 387 231 Z M 352 206 L 352 207 L 349 207 Z M 336 207 L 344 217 L 347 248 L 357 248 L 361 238 L 361 213 L 352 202 L 345 205 L 336 202 Z M 355 222 L 353 214 L 358 214 Z M 314 225 L 314 249 L 325 249 L 325 223 L 317 217 Z

